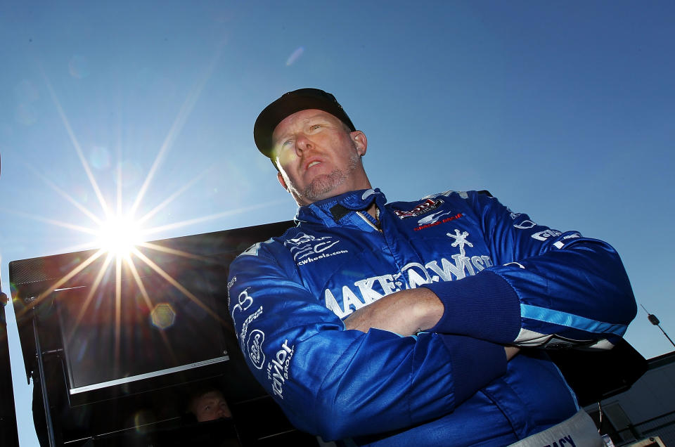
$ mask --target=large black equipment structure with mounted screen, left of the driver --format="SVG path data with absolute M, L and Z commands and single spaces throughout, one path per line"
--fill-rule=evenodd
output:
M 41 443 L 315 446 L 248 372 L 227 312 L 229 263 L 291 225 L 148 242 L 133 265 L 97 250 L 12 261 Z M 232 420 L 186 413 L 205 386 L 223 391 Z

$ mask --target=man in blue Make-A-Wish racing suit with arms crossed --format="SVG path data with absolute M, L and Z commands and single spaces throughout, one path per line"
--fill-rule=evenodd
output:
M 291 422 L 359 446 L 600 442 L 542 348 L 623 335 L 636 306 L 612 247 L 487 192 L 387 203 L 321 90 L 278 98 L 254 137 L 300 208 L 233 261 L 229 306 Z

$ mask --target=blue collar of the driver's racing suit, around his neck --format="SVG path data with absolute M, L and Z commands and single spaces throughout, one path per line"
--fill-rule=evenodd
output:
M 328 227 L 335 226 L 349 212 L 368 209 L 373 202 L 380 208 L 387 202 L 379 188 L 350 191 L 298 208 L 295 221 L 321 222 Z

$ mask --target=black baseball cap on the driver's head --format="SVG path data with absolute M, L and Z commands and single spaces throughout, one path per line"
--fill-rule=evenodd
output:
M 340 119 L 352 131 L 356 128 L 349 119 L 345 109 L 338 103 L 335 96 L 319 89 L 299 89 L 284 93 L 274 103 L 271 103 L 260 112 L 253 125 L 253 139 L 258 150 L 271 159 L 272 133 L 280 122 L 300 110 L 317 109 L 330 113 Z M 274 162 L 274 160 L 272 160 Z

